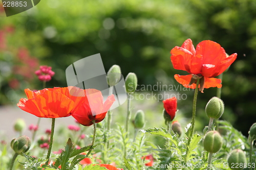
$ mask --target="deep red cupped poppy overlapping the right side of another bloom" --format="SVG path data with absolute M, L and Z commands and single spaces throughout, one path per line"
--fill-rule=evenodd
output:
M 106 112 L 115 102 L 115 97 L 112 94 L 103 103 L 101 91 L 96 89 L 86 89 L 85 91 L 86 100 L 72 116 L 83 126 L 91 126 L 93 125 L 92 120 L 99 123 L 105 118 Z

